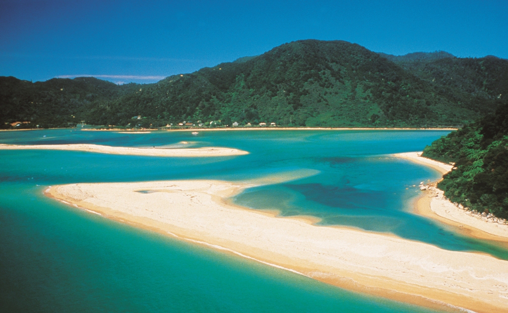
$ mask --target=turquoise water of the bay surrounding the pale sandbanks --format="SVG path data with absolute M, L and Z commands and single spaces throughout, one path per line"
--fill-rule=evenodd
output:
M 7 312 L 430 312 L 344 291 L 287 271 L 107 221 L 42 195 L 72 182 L 249 180 L 298 169 L 319 174 L 236 196 L 254 209 L 321 217 L 508 259 L 411 214 L 412 187 L 438 173 L 385 154 L 422 150 L 444 131 L 252 131 L 118 134 L 2 132 L 0 143 L 226 146 L 227 158 L 153 158 L 74 151 L 0 150 L 0 310 Z M 407 188 L 407 189 L 406 189 Z

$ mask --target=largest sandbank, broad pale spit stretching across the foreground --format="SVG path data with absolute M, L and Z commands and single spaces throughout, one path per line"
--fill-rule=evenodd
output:
M 508 308 L 508 261 L 228 204 L 249 186 L 213 180 L 81 183 L 46 192 L 108 218 L 347 289 L 430 307 Z

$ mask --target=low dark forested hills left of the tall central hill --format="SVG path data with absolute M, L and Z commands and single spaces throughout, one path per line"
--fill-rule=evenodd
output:
M 21 128 L 72 127 L 86 118 L 86 110 L 131 92 L 136 84 L 118 86 L 92 77 L 50 79 L 31 83 L 0 77 L 0 122 L 29 121 Z M 18 128 L 20 128 L 18 127 Z

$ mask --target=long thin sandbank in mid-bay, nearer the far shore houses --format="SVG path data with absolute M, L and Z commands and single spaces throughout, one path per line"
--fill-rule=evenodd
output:
M 0 144 L 0 150 L 72 150 L 108 154 L 147 155 L 150 157 L 227 157 L 249 152 L 222 147 L 203 147 L 188 149 L 113 147 L 97 144 L 52 144 L 52 145 L 8 145 Z

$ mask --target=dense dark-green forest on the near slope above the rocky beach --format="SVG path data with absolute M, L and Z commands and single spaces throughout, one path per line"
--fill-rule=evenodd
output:
M 454 162 L 439 189 L 451 201 L 508 218 L 508 101 L 427 146 L 424 157 Z

